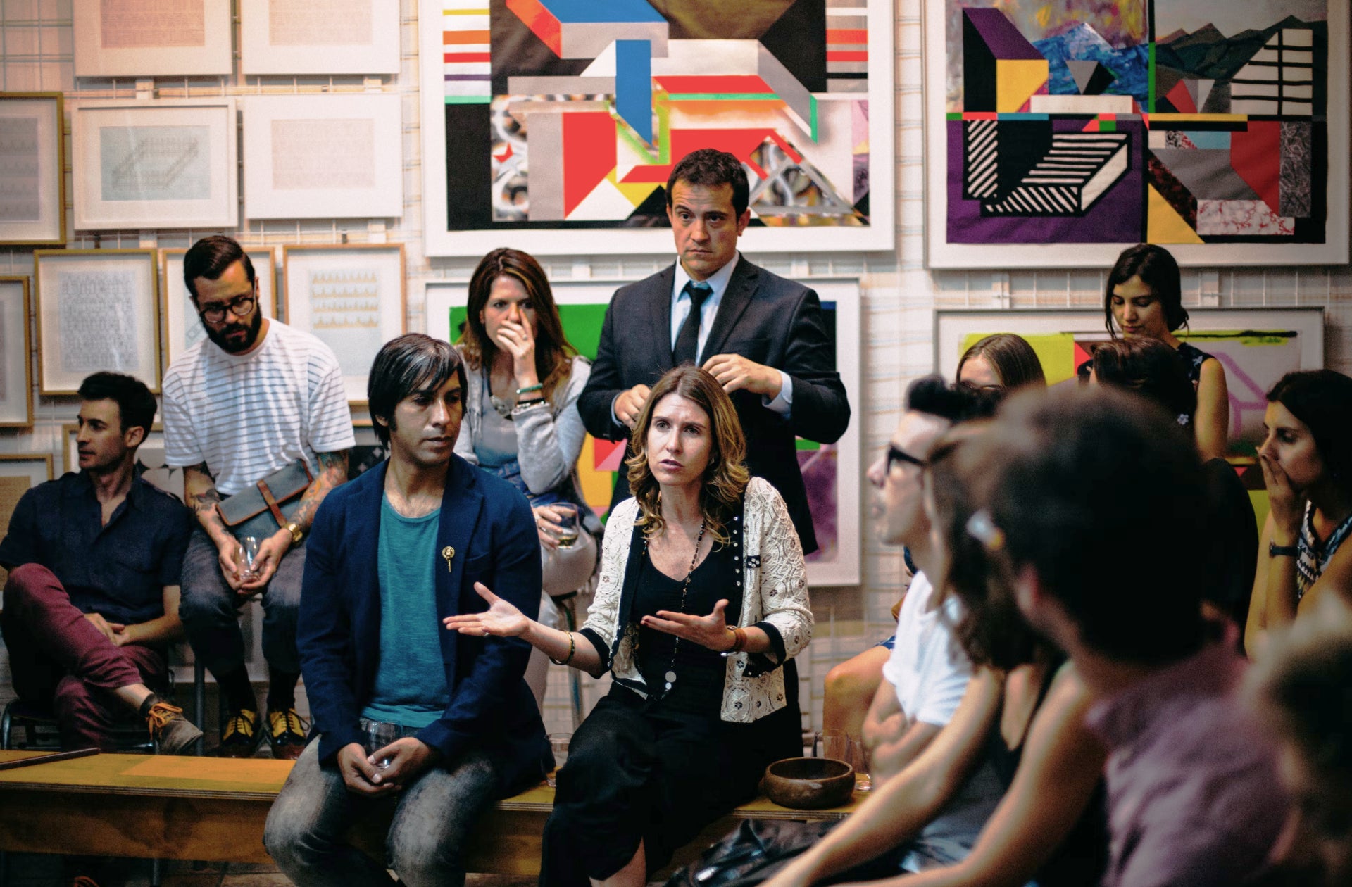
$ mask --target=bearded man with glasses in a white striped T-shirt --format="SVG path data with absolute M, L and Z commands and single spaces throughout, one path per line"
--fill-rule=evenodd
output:
M 273 757 L 295 759 L 306 733 L 295 706 L 306 533 L 324 495 L 347 479 L 347 450 L 356 444 L 342 372 L 318 338 L 262 315 L 253 264 L 234 239 L 197 241 L 183 272 L 207 338 L 174 360 L 164 379 L 165 461 L 184 469 L 185 500 L 197 515 L 178 613 L 193 654 L 230 707 L 219 754 L 249 757 L 264 732 L 237 617 L 262 594 L 266 733 Z M 272 488 L 277 481 L 265 479 L 289 466 L 301 483 L 307 473 L 312 480 L 299 504 L 284 506 Z M 257 540 L 250 561 L 219 507 L 235 495 L 261 495 L 265 503 L 258 511 L 266 526 L 249 533 Z

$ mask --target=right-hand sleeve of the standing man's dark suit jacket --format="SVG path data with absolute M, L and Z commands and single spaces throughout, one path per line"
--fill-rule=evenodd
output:
M 783 369 L 794 381 L 790 425 L 794 434 L 819 444 L 834 444 L 849 426 L 849 399 L 836 361 L 836 345 L 826 337 L 822 303 L 803 289 L 794 307 Z

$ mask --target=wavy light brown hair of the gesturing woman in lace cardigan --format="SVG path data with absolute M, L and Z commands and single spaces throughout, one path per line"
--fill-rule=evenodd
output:
M 708 466 L 704 468 L 703 485 L 699 491 L 699 510 L 707 523 L 706 531 L 718 544 L 727 542 L 726 526 L 738 510 L 742 494 L 750 480 L 744 460 L 746 438 L 742 437 L 742 423 L 737 410 L 723 387 L 699 366 L 677 366 L 669 369 L 657 380 L 648 402 L 638 414 L 634 435 L 630 438 L 633 456 L 625 460 L 629 468 L 629 489 L 638 500 L 641 515 L 637 521 L 644 527 L 644 535 L 654 538 L 664 526 L 661 511 L 661 489 L 648 465 L 648 429 L 653 423 L 653 410 L 667 395 L 680 395 L 696 404 L 708 416 L 708 431 L 713 448 L 708 453 Z

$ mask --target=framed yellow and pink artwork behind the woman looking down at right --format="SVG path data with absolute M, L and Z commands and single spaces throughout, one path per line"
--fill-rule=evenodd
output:
M 1324 366 L 1324 308 L 1188 308 L 1180 339 L 1225 366 L 1230 395 L 1230 456 L 1253 456 L 1263 441 L 1267 392 L 1295 369 Z M 1075 370 L 1109 338 L 1103 312 L 936 311 L 934 369 L 945 379 L 969 345 L 992 333 L 1017 333 L 1037 352 L 1048 384 Z

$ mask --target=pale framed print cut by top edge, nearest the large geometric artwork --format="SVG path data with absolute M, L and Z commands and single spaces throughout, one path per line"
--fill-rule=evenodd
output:
M 239 0 L 239 73 L 397 74 L 399 0 Z

